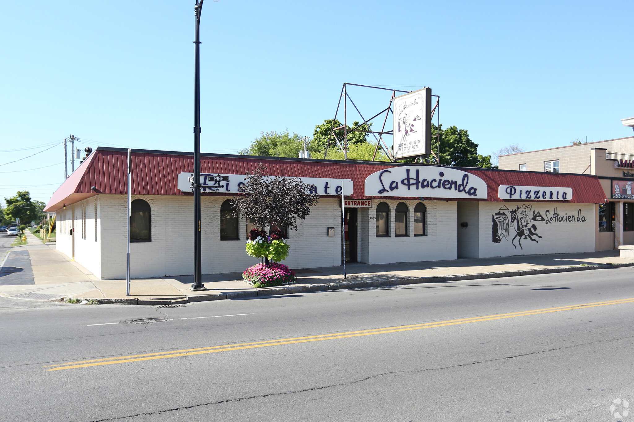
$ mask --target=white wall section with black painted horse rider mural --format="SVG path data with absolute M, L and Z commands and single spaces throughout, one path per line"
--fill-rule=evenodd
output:
M 515 239 L 515 247 L 511 240 L 515 236 L 514 224 L 510 226 L 510 239 L 502 239 L 500 243 L 493 242 L 493 214 L 500 211 L 500 208 L 515 209 L 524 204 L 502 203 L 502 202 L 480 202 L 480 247 L 481 258 L 491 256 L 513 256 L 513 255 L 533 255 L 533 254 L 564 254 L 570 252 L 593 252 L 595 250 L 595 225 L 597 217 L 595 215 L 594 204 L 564 204 L 560 202 L 539 202 L 531 203 L 529 216 L 533 217 L 533 211 L 539 212 L 541 216 L 547 218 L 552 216 L 553 209 L 557 208 L 560 216 L 577 216 L 579 210 L 585 216 L 585 222 L 548 223 L 545 221 L 533 221 L 531 225 L 537 227 L 536 233 L 541 236 L 534 237 L 537 242 L 530 239 L 521 238 L 522 248 L 519 246 L 519 237 Z M 526 204 L 528 205 L 528 204 Z M 548 210 L 548 213 L 547 213 Z M 508 214 L 502 209 L 501 212 Z M 510 215 L 509 215 L 510 218 Z

